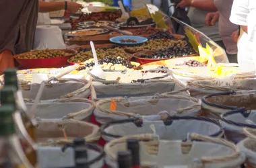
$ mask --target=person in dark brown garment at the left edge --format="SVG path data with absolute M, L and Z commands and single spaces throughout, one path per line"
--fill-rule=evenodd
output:
M 28 52 L 34 43 L 38 0 L 0 1 L 0 74 L 14 67 L 14 54 Z

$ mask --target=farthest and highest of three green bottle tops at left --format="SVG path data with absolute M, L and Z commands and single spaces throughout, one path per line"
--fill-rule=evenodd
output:
M 13 86 L 18 90 L 18 77 L 16 69 L 6 69 L 4 71 L 5 86 Z

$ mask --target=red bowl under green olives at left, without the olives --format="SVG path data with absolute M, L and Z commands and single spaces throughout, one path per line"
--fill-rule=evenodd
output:
M 28 54 L 30 52 L 25 52 L 13 56 L 15 60 L 20 64 L 22 69 L 39 69 L 39 68 L 61 68 L 68 65 L 67 60 L 75 55 L 77 51 L 75 50 L 61 50 L 66 53 L 70 53 L 67 56 L 59 56 L 56 58 L 40 58 L 40 59 L 20 59 L 18 56 L 22 54 Z

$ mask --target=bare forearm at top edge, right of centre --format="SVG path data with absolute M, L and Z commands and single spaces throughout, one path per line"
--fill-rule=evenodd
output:
M 207 11 L 218 11 L 214 5 L 214 0 L 181 0 L 177 7 L 196 7 Z

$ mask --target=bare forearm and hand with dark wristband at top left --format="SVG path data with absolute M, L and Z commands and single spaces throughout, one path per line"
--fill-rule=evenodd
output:
M 67 2 L 67 11 L 70 13 L 75 13 L 77 12 L 82 5 L 79 3 L 75 2 Z M 38 11 L 42 13 L 48 13 L 51 11 L 59 11 L 65 9 L 65 1 L 61 2 L 44 2 L 44 1 L 39 1 L 39 6 L 38 6 Z

